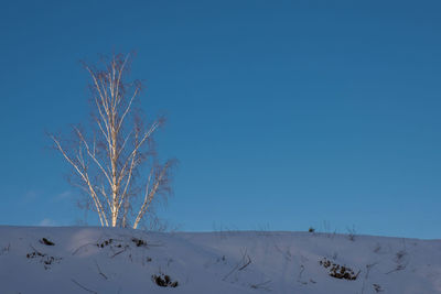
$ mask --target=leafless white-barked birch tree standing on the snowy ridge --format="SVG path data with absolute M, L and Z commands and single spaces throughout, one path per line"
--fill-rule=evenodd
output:
M 104 68 L 84 64 L 92 78 L 88 132 L 77 126 L 71 140 L 50 137 L 73 168 L 72 184 L 88 195 L 101 226 L 137 229 L 153 199 L 172 192 L 175 160 L 160 164 L 154 150 L 153 134 L 164 119 L 144 126 L 135 107 L 142 84 L 126 80 L 131 55 L 104 61 Z

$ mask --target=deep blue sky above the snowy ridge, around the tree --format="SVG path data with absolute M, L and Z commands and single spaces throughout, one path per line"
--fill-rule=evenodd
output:
M 136 50 L 171 224 L 441 238 L 441 4 L 333 2 L 3 2 L 0 224 L 83 218 L 45 131 L 88 117 L 79 59 Z

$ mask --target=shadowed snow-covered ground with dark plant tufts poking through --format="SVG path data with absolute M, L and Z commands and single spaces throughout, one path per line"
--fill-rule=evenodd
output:
M 441 240 L 0 227 L 0 293 L 441 293 Z

